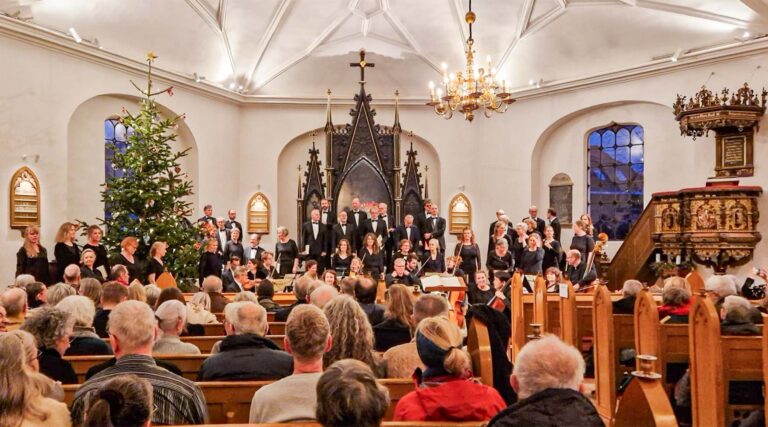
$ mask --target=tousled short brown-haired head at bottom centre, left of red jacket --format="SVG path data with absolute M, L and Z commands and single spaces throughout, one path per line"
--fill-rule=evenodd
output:
M 389 408 L 389 390 L 370 366 L 340 360 L 317 382 L 317 421 L 324 427 L 378 427 Z

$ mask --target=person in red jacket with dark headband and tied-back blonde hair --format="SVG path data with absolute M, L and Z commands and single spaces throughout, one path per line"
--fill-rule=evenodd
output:
M 416 350 L 426 366 L 417 388 L 395 407 L 394 421 L 486 421 L 506 407 L 493 387 L 472 380 L 471 361 L 461 333 L 445 317 L 421 321 Z

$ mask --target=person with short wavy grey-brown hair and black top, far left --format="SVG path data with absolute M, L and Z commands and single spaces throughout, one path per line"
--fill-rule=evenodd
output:
M 62 384 L 77 384 L 72 365 L 62 356 L 69 348 L 75 317 L 56 307 L 40 307 L 29 312 L 21 329 L 37 341 L 40 373 Z

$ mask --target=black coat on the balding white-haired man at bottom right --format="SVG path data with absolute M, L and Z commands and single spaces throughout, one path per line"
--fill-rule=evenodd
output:
M 499 412 L 490 427 L 602 427 L 594 405 L 581 393 L 549 388 Z

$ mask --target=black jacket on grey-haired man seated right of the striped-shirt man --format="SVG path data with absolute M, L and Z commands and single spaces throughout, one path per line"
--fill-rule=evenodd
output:
M 230 335 L 219 353 L 205 359 L 198 381 L 277 380 L 293 372 L 293 358 L 271 340 L 254 334 Z

